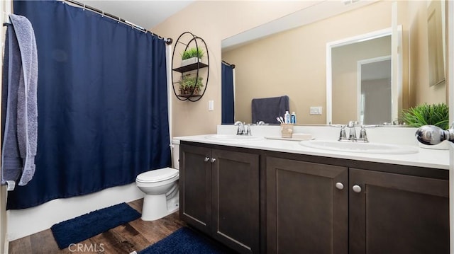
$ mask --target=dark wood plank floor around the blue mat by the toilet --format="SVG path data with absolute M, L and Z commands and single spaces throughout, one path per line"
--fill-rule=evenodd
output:
M 142 212 L 143 199 L 128 203 L 131 207 Z M 94 251 L 71 251 L 69 248 L 60 250 L 52 236 L 52 231 L 47 229 L 31 236 L 11 241 L 9 243 L 10 254 L 41 254 L 41 253 L 106 253 L 128 254 L 134 250 L 139 251 L 160 241 L 162 238 L 185 226 L 184 221 L 179 219 L 178 212 L 156 221 L 143 221 L 136 219 L 127 224 L 117 226 L 114 229 L 100 233 L 82 242 L 82 245 L 92 246 Z M 75 250 L 76 248 L 72 248 Z M 89 249 L 88 249 L 89 250 Z M 103 250 L 103 251 L 100 251 Z

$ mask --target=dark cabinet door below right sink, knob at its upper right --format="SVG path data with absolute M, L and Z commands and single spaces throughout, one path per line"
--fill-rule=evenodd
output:
M 267 253 L 348 253 L 348 168 L 272 157 L 266 168 Z

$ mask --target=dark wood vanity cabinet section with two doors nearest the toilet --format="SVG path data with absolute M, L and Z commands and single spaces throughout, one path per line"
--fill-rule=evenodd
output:
M 258 172 L 258 154 L 181 144 L 181 219 L 238 253 L 258 253 Z

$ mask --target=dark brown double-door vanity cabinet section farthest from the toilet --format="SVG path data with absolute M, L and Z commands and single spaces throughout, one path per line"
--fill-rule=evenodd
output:
M 338 164 L 267 156 L 266 253 L 449 253 L 447 179 Z

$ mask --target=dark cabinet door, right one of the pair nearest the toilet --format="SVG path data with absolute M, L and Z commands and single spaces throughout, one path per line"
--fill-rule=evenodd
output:
M 258 253 L 257 154 L 213 149 L 212 236 L 239 253 Z

